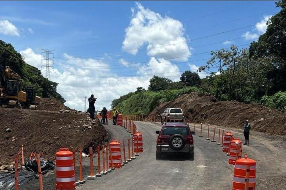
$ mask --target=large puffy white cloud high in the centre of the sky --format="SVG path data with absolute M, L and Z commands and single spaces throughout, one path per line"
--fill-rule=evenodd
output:
M 131 8 L 132 18 L 130 25 L 125 29 L 123 50 L 134 55 L 140 47 L 147 45 L 147 54 L 150 57 L 186 61 L 190 56 L 184 35 L 183 24 L 168 16 L 162 17 L 136 2 Z M 183 49 L 183 50 L 182 50 Z M 180 50 L 180 51 L 178 51 Z

